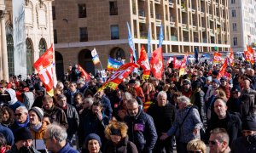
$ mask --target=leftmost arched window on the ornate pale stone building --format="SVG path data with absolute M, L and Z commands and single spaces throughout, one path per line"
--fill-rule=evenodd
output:
M 6 37 L 9 75 L 15 74 L 14 39 L 11 34 Z

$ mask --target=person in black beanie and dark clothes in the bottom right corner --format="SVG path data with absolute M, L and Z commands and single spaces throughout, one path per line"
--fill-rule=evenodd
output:
M 242 121 L 242 136 L 236 139 L 231 146 L 231 153 L 256 152 L 256 115 L 247 116 Z

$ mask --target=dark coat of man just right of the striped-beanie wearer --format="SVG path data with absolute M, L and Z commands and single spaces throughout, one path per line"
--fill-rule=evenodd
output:
M 63 127 L 68 128 L 67 116 L 61 108 L 53 105 L 49 110 L 44 109 L 44 114 L 48 115 L 53 122 L 58 122 Z

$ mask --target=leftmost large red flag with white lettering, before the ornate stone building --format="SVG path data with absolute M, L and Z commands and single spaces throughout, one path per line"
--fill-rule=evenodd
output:
M 34 63 L 34 68 L 38 71 L 40 80 L 43 82 L 47 93 L 53 96 L 53 47 L 42 54 Z

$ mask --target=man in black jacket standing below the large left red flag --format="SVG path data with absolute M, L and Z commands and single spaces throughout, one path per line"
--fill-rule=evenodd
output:
M 57 103 L 67 116 L 67 139 L 72 142 L 73 134 L 77 132 L 79 127 L 79 114 L 73 105 L 67 104 L 67 97 L 64 94 L 58 95 Z

